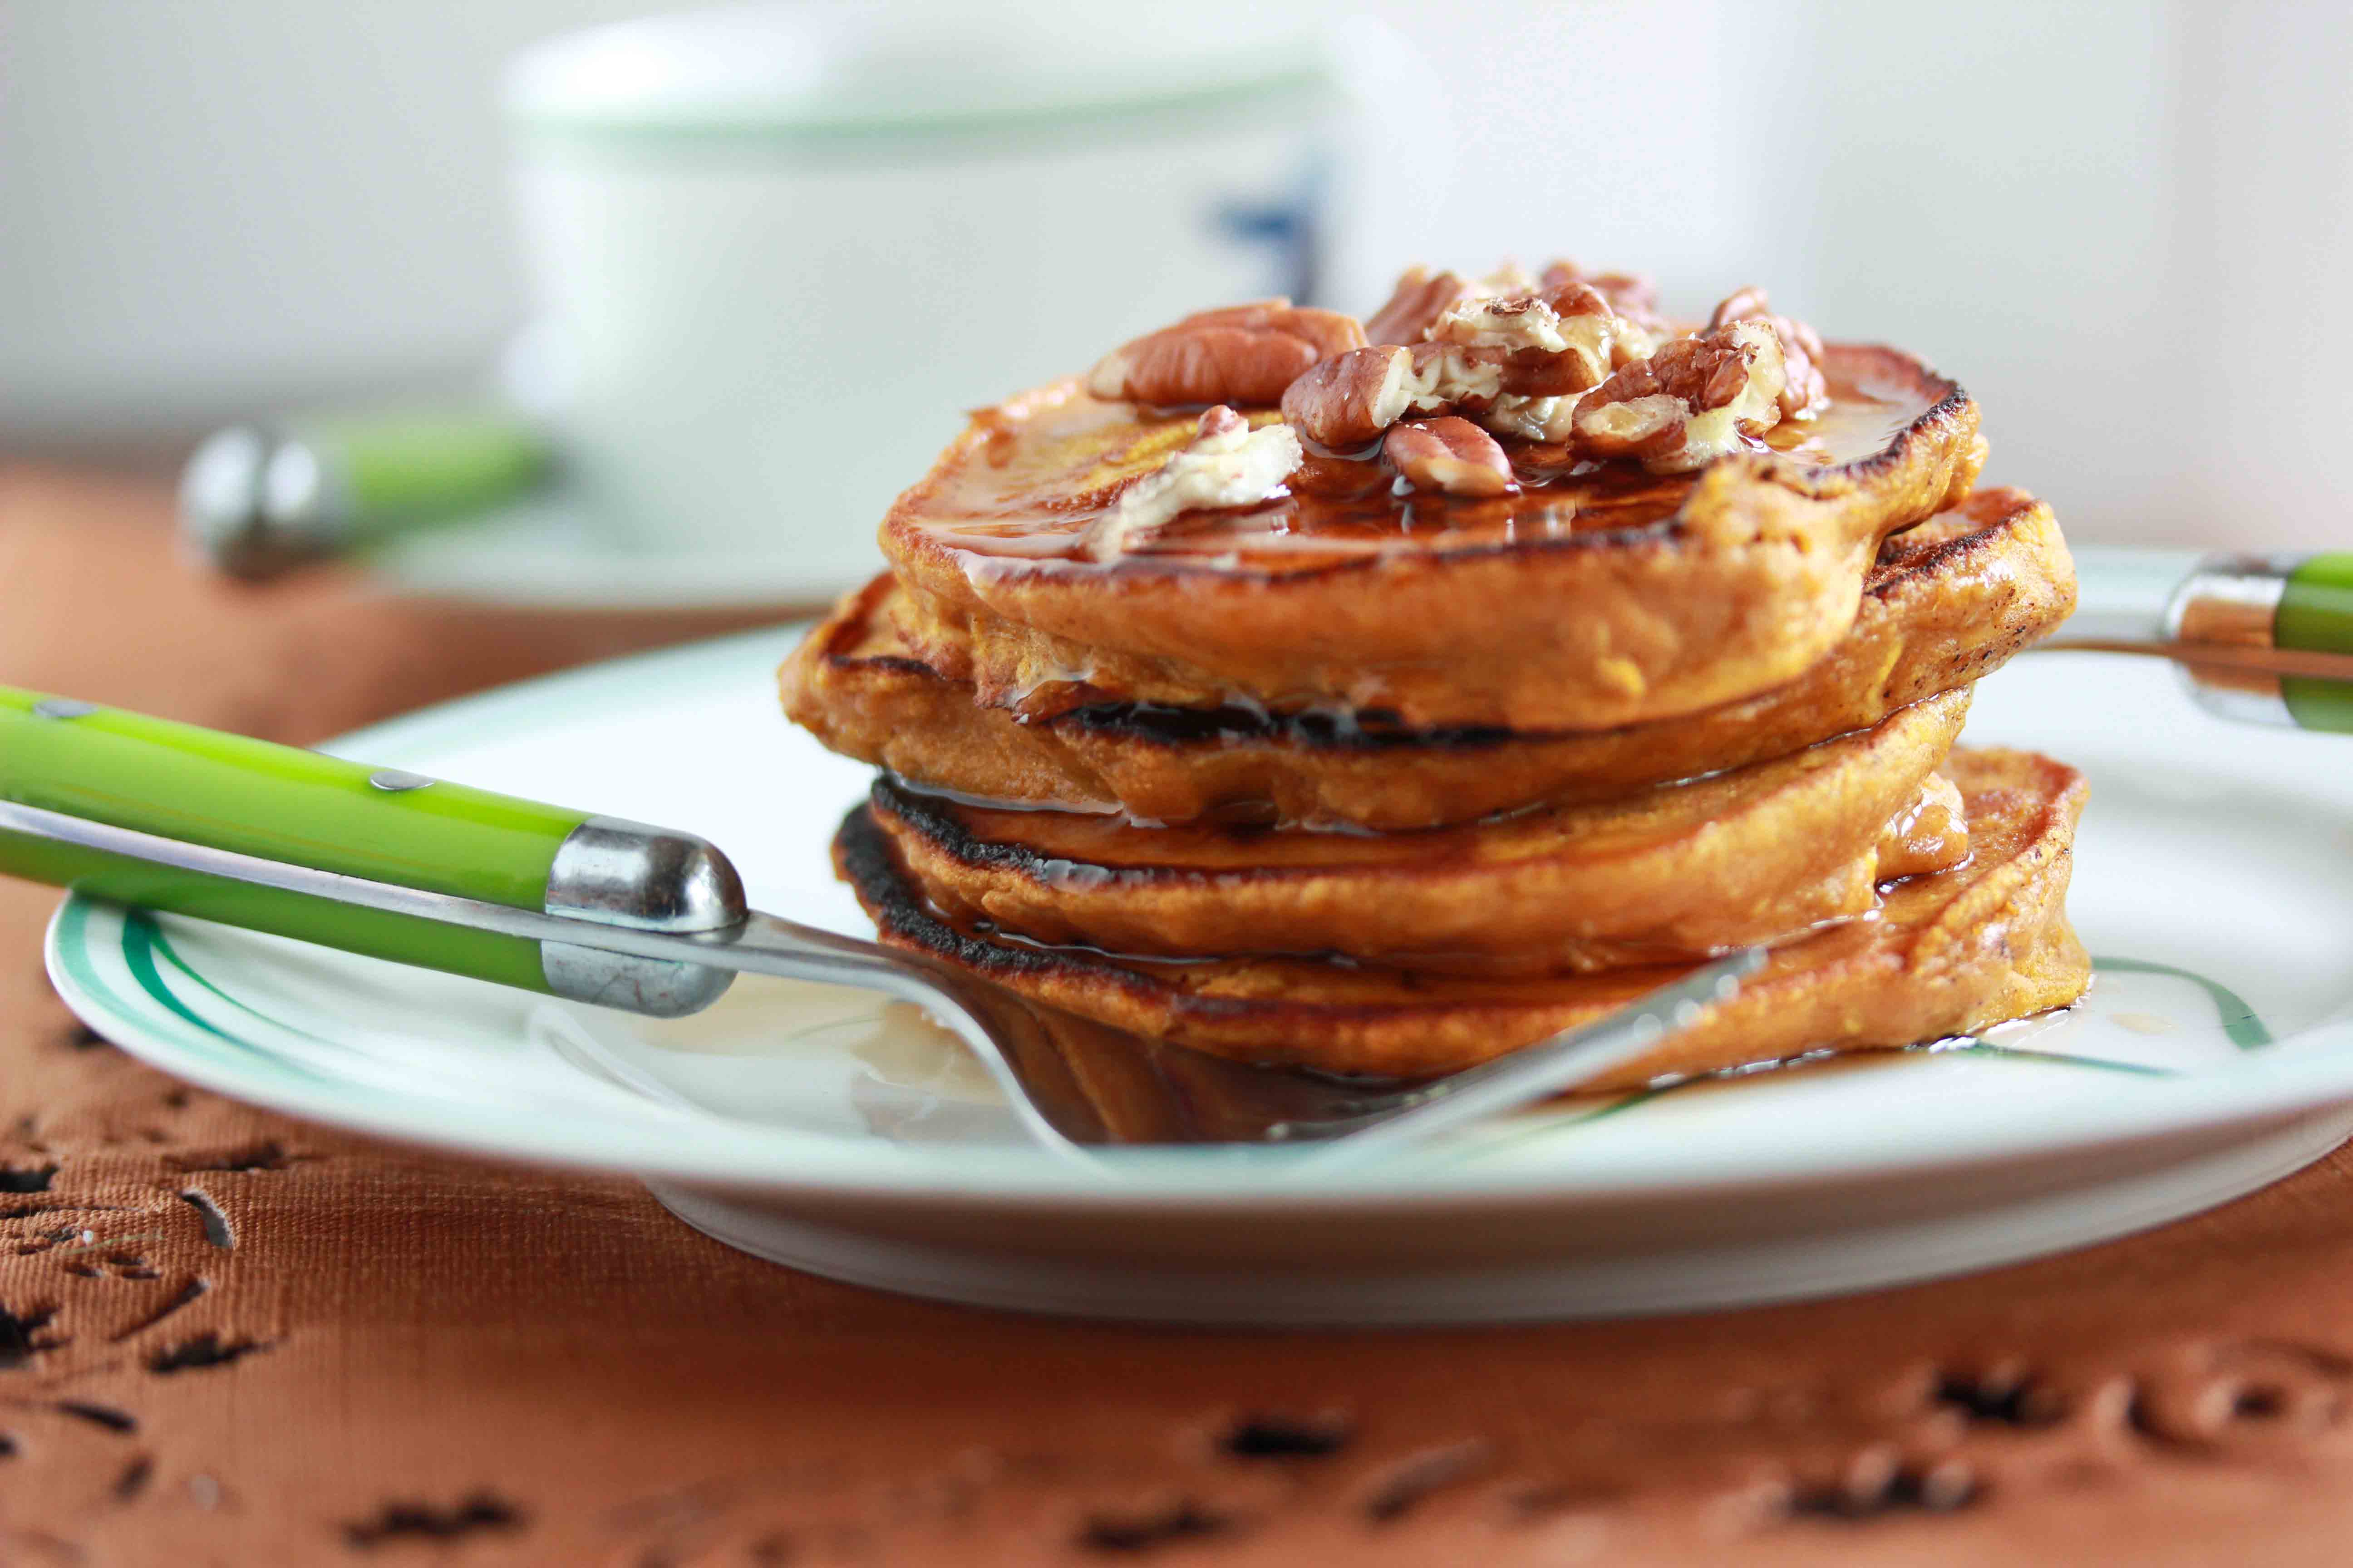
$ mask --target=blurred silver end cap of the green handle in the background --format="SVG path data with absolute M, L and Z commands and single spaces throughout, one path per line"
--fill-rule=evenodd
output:
M 207 437 L 188 458 L 179 529 L 209 567 L 268 578 L 351 543 L 351 487 L 315 444 L 235 425 Z

